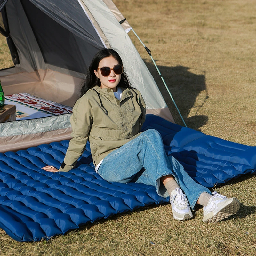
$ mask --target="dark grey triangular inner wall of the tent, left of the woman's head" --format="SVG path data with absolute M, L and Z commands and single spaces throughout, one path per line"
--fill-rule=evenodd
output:
M 23 1 L 23 8 L 41 49 L 46 66 L 50 64 L 84 73 L 89 66 L 88 60 L 86 63 L 84 56 L 90 56 L 91 52 L 97 52 L 103 45 L 97 48 L 92 43 L 93 46 L 88 46 L 83 39 L 52 20 L 28 0 Z M 58 31 L 58 37 L 56 37 L 56 31 Z M 48 39 L 45 40 L 45 38 Z M 62 40 L 60 41 L 59 38 Z M 70 45 L 73 45 L 73 47 L 70 48 Z M 79 47 L 80 45 L 82 47 Z

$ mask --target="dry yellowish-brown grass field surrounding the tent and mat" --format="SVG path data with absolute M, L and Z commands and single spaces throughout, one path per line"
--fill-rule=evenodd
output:
M 151 50 L 188 127 L 255 146 L 255 1 L 114 3 Z M 132 34 L 131 39 L 182 125 L 147 52 Z M 1 40 L 0 68 L 6 68 L 11 61 Z M 85 225 L 48 242 L 19 243 L 0 229 L 0 255 L 256 255 L 256 177 L 216 190 L 241 202 L 234 217 L 217 224 L 202 222 L 202 208 L 192 220 L 175 221 L 166 204 Z

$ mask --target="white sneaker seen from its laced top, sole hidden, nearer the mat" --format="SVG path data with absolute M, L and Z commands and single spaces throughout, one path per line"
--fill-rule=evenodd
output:
M 172 190 L 170 195 L 173 218 L 176 220 L 189 220 L 193 217 L 188 200 L 180 188 Z

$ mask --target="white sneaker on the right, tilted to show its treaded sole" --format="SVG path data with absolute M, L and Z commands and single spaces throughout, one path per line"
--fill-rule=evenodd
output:
M 208 204 L 204 206 L 203 222 L 216 223 L 238 212 L 240 203 L 237 198 L 227 198 L 216 191 L 212 195 Z

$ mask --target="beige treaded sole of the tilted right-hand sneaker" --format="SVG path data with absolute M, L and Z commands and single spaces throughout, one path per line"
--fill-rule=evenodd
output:
M 225 205 L 222 209 L 220 209 L 219 212 L 217 212 L 215 215 L 210 216 L 211 214 L 207 214 L 203 218 L 203 222 L 205 223 L 216 223 L 223 219 L 228 218 L 229 216 L 236 214 L 240 208 L 240 203 L 237 198 L 232 198 L 232 201 Z

